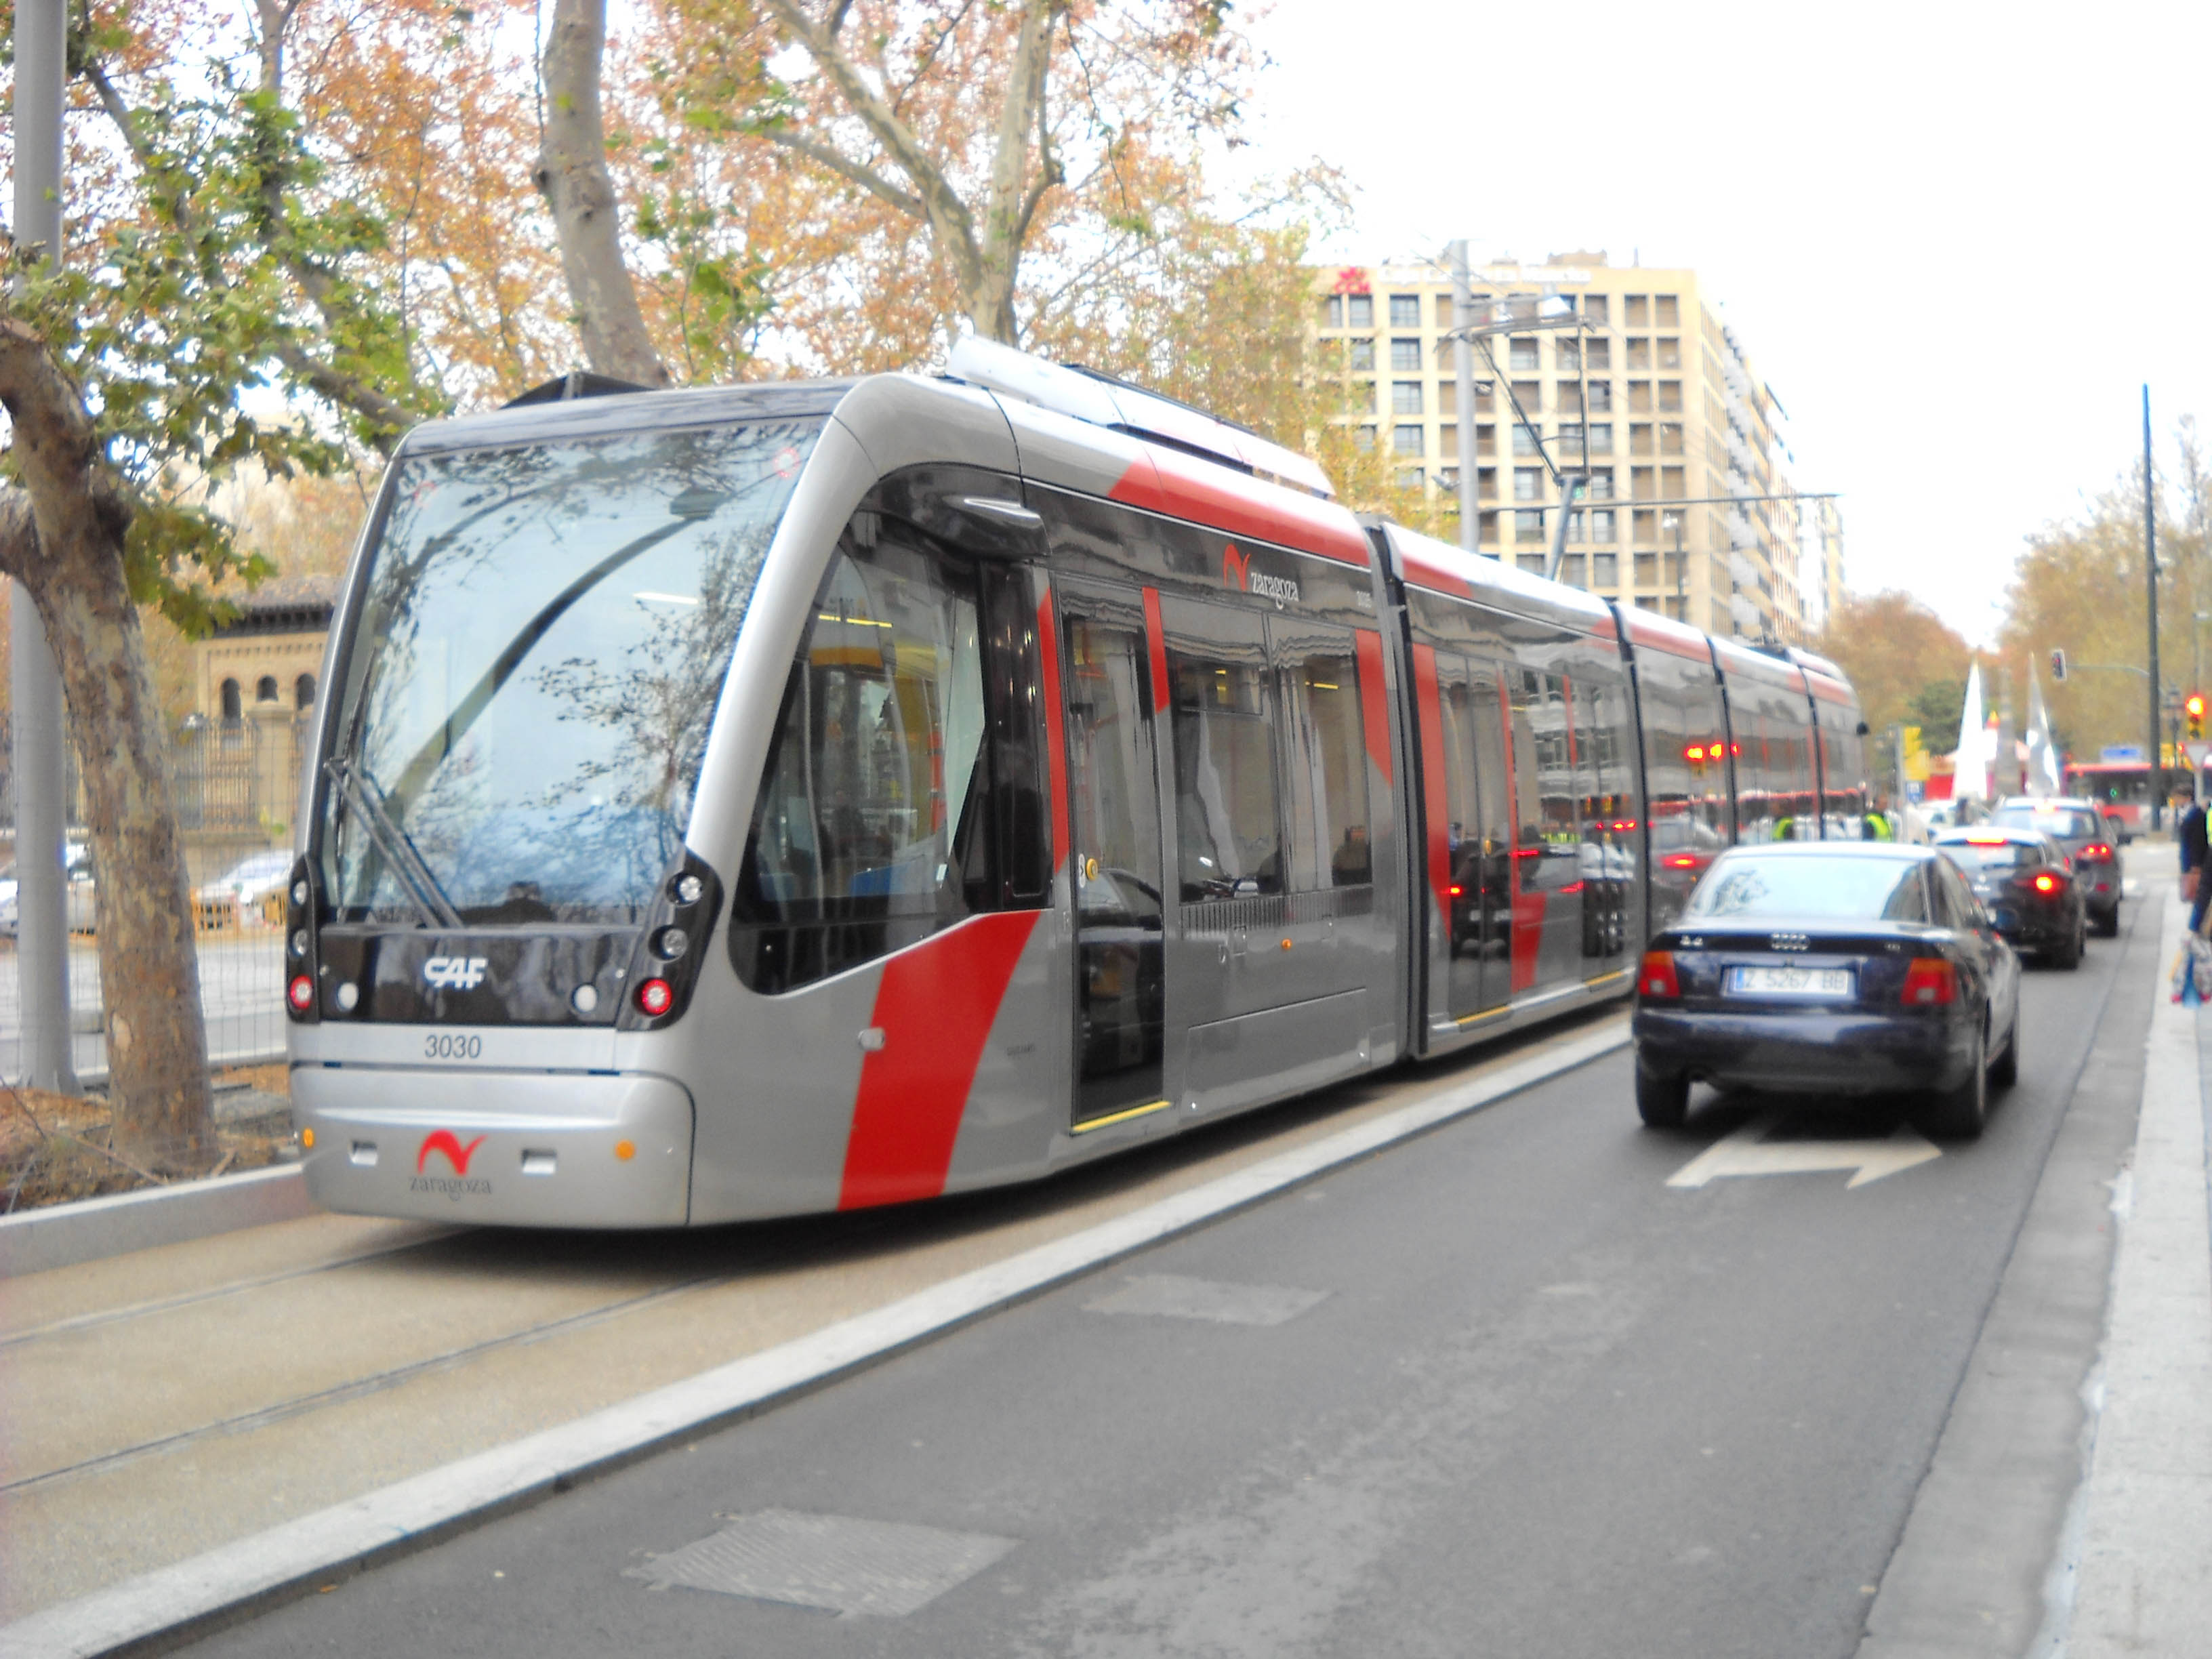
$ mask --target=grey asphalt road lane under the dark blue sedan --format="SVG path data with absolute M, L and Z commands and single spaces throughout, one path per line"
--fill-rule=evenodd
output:
M 1761 1108 L 1617 1055 L 192 1652 L 1851 1655 L 2154 949 L 2031 969 L 1933 1161 L 1668 1186 Z

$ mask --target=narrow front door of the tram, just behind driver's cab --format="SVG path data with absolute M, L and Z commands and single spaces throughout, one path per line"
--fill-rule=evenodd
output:
M 1159 765 L 1141 617 L 1066 613 L 1075 1124 L 1164 1102 Z M 1106 606 L 1097 606 L 1106 611 Z

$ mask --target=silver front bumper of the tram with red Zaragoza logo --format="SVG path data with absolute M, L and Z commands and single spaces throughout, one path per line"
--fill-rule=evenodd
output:
M 690 1093 L 608 1073 L 294 1066 L 307 1194 L 345 1214 L 681 1228 Z

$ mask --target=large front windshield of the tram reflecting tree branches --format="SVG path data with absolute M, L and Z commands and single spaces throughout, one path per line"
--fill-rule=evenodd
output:
M 400 462 L 323 779 L 341 920 L 644 916 L 821 427 Z

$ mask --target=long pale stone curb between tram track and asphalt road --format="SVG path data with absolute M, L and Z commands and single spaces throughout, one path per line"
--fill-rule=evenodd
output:
M 1480 1082 L 1442 1088 L 1374 1121 L 960 1274 L 812 1336 L 33 1613 L 0 1628 L 0 1657 L 91 1659 L 166 1652 L 197 1641 L 336 1577 L 427 1548 L 692 1436 L 726 1429 L 823 1389 L 1164 1239 L 1601 1060 L 1628 1042 L 1624 1022 L 1559 1044 Z

